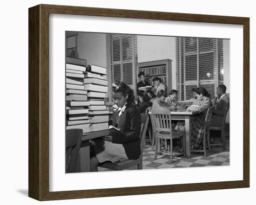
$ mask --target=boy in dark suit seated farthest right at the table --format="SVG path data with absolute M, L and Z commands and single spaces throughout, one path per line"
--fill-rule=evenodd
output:
M 229 96 L 226 94 L 227 87 L 223 84 L 217 87 L 217 96 L 212 102 L 214 105 L 210 126 L 221 127 L 225 109 L 229 106 Z

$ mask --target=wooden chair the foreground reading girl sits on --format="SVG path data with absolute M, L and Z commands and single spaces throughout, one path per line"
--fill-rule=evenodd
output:
M 99 165 L 99 167 L 107 168 L 107 169 L 113 169 L 113 170 L 123 170 L 127 169 L 129 167 L 137 166 L 137 169 L 142 169 L 142 155 L 143 155 L 143 145 L 145 141 L 145 135 L 147 132 L 148 127 L 148 115 L 141 113 L 141 155 L 137 160 L 119 160 L 115 163 L 112 163 L 110 161 L 104 162 Z

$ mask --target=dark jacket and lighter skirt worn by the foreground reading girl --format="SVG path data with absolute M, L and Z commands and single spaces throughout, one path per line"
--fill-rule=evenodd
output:
M 141 154 L 141 115 L 138 109 L 132 104 L 127 104 L 120 116 L 118 116 L 119 112 L 122 111 L 113 113 L 112 125 L 120 128 L 126 136 L 114 135 L 112 142 L 102 139 L 94 140 L 94 152 L 100 163 L 104 161 L 114 163 L 123 159 L 136 160 Z

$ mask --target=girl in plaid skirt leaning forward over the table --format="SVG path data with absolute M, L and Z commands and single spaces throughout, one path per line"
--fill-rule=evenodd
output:
M 198 149 L 204 135 L 204 120 L 207 110 L 213 107 L 210 94 L 203 87 L 195 88 L 195 95 L 200 101 L 200 106 L 190 106 L 188 111 L 198 111 L 199 114 L 191 119 L 191 145 L 192 149 Z

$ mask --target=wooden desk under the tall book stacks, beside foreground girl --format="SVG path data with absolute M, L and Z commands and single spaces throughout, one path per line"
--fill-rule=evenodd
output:
M 108 135 L 108 129 L 83 134 L 80 147 L 81 172 L 90 172 L 90 140 Z

